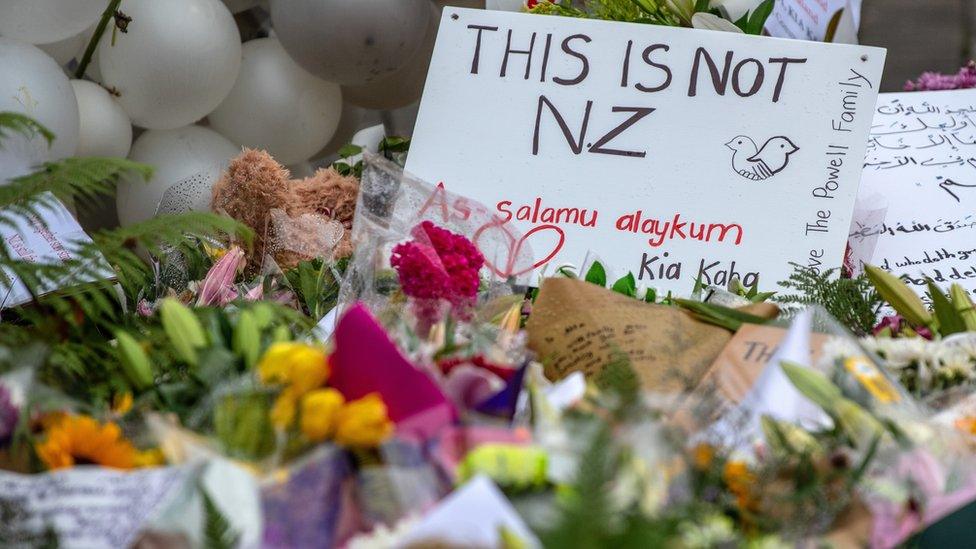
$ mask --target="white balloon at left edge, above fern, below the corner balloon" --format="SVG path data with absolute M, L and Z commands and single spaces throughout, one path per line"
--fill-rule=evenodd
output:
M 50 159 L 75 154 L 78 102 L 68 77 L 48 54 L 9 38 L 0 38 L 0 112 L 3 111 L 26 114 L 54 132 Z

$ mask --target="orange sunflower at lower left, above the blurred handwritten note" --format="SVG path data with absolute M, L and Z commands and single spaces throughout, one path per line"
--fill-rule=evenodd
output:
M 101 465 L 115 469 L 136 466 L 137 451 L 115 423 L 99 423 L 89 416 L 68 415 L 47 430 L 35 446 L 48 469 Z

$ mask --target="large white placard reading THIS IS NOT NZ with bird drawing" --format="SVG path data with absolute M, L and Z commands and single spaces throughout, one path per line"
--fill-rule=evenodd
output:
M 659 289 L 772 287 L 841 264 L 884 57 L 447 8 L 407 170 L 515 224 L 537 270 L 592 250 Z

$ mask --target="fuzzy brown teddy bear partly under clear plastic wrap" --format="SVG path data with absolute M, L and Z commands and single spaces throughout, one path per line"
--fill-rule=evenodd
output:
M 248 265 L 266 255 L 289 269 L 313 257 L 347 257 L 359 181 L 332 168 L 291 179 L 265 151 L 245 149 L 214 185 L 211 208 L 254 230 Z

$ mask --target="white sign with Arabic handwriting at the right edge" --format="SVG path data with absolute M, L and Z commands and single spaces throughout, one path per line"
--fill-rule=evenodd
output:
M 855 219 L 851 246 L 920 294 L 932 277 L 976 291 L 976 90 L 886 93 L 865 157 L 864 201 L 883 197 L 883 222 Z M 875 199 L 877 200 L 877 199 Z

